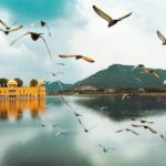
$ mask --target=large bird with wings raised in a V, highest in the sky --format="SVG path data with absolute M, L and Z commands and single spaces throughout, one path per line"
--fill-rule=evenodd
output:
M 132 12 L 118 18 L 118 19 L 112 19 L 110 15 L 107 15 L 104 11 L 102 11 L 101 9 L 98 9 L 96 6 L 93 6 L 93 10 L 104 20 L 106 20 L 108 22 L 108 28 L 116 24 L 118 21 L 122 21 L 126 18 L 128 18 Z

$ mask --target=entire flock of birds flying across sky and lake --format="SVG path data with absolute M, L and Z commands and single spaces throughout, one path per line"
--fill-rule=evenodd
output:
M 126 19 L 126 18 L 128 18 L 128 17 L 132 15 L 132 12 L 129 12 L 129 13 L 127 13 L 127 14 L 121 17 L 121 18 L 113 19 L 113 18 L 111 18 L 108 14 L 106 14 L 104 11 L 102 11 L 100 8 L 97 8 L 96 6 L 93 6 L 93 10 L 95 11 L 95 13 L 96 13 L 97 15 L 100 15 L 102 19 L 104 19 L 105 21 L 107 21 L 107 23 L 108 23 L 107 27 L 108 27 L 108 28 L 115 25 L 117 22 L 121 22 L 121 21 L 123 21 L 124 19 Z M 35 25 L 37 23 L 38 23 L 38 22 L 34 22 L 34 23 L 32 23 L 32 25 Z M 46 28 L 48 33 L 49 33 L 49 37 L 51 37 L 51 31 L 50 31 L 50 28 L 49 28 L 48 23 L 44 22 L 44 21 L 40 21 L 39 23 L 40 23 L 40 25 L 41 25 L 42 28 Z M 11 25 L 7 25 L 2 20 L 0 20 L 0 24 L 3 27 L 3 28 L 0 28 L 0 31 L 3 32 L 6 35 L 10 34 L 11 32 L 19 31 L 19 30 L 21 30 L 21 29 L 23 28 L 23 25 L 18 25 L 18 27 L 15 27 L 17 22 L 12 23 Z M 15 42 L 18 42 L 19 40 L 21 40 L 21 39 L 22 39 L 23 37 L 25 37 L 25 35 L 29 35 L 29 37 L 31 38 L 31 40 L 34 41 L 34 42 L 38 41 L 39 39 L 41 39 L 41 40 L 43 41 L 43 43 L 45 44 L 45 48 L 46 48 L 48 53 L 49 53 L 49 55 L 50 55 L 50 60 L 52 61 L 52 53 L 51 53 L 51 51 L 50 51 L 50 49 L 49 49 L 49 45 L 48 45 L 48 43 L 46 43 L 46 40 L 45 40 L 44 37 L 43 37 L 43 33 L 28 31 L 28 32 L 25 32 L 24 34 L 22 34 L 21 37 L 19 37 L 19 38 L 17 38 L 15 40 L 13 40 L 10 45 L 13 45 Z M 165 38 L 159 31 L 157 31 L 157 35 L 158 35 L 158 38 L 162 40 L 163 45 L 166 45 L 166 38 Z M 82 60 L 84 60 L 84 61 L 86 61 L 86 62 L 90 62 L 90 63 L 94 63 L 94 62 L 95 62 L 92 58 L 89 58 L 89 56 L 85 56 L 85 55 L 79 55 L 79 54 L 75 54 L 75 55 L 64 55 L 64 54 L 60 54 L 59 58 L 61 58 L 61 59 L 70 59 L 70 58 L 73 58 L 73 59 L 75 59 L 75 60 L 81 60 L 81 59 L 82 59 Z M 56 63 L 56 64 L 58 64 L 58 65 L 65 65 L 64 63 Z M 137 68 L 139 68 L 139 69 L 143 70 L 143 71 L 142 71 L 143 74 L 151 74 L 151 75 L 153 75 L 154 77 L 159 79 L 159 74 L 158 74 L 158 73 L 156 73 L 156 72 L 153 71 L 153 70 L 146 69 L 144 64 L 138 64 L 138 65 L 134 66 L 133 70 L 135 70 L 135 69 L 137 69 Z M 56 74 L 63 74 L 63 72 L 52 73 L 53 76 L 55 76 Z M 60 87 L 62 89 L 61 83 L 60 83 Z M 129 93 L 127 94 L 127 93 L 126 93 L 126 94 L 123 95 L 122 98 L 123 98 L 123 100 L 125 100 L 125 98 L 131 98 L 132 95 L 133 95 L 133 94 L 129 94 Z M 66 98 L 65 98 L 63 95 L 62 95 L 61 97 L 62 97 L 63 103 L 66 104 L 66 105 L 72 110 L 73 115 L 77 117 L 77 122 L 79 122 L 79 124 L 81 125 L 81 127 L 84 129 L 85 133 L 90 132 L 91 129 L 93 129 L 93 128 L 96 126 L 96 125 L 94 125 L 94 126 L 92 126 L 92 127 L 86 127 L 86 126 L 84 125 L 84 123 L 82 122 L 82 120 L 81 120 L 81 116 L 83 116 L 83 115 L 82 115 L 81 113 L 76 112 L 76 111 L 70 105 L 70 103 L 66 101 Z M 104 111 L 104 110 L 106 110 L 106 108 L 107 108 L 107 107 L 105 107 L 105 106 L 100 107 L 101 111 Z M 134 120 L 134 118 L 133 118 L 132 121 L 137 121 L 137 120 Z M 144 120 L 141 120 L 139 122 L 141 122 L 141 124 L 132 124 L 132 126 L 133 126 L 133 127 L 143 127 L 143 128 L 145 128 L 145 129 L 148 129 L 148 131 L 152 132 L 153 134 L 157 134 L 157 132 L 156 132 L 154 128 L 152 128 L 151 126 L 147 125 L 147 124 L 153 124 L 154 122 L 147 122 L 147 121 L 144 121 Z M 56 127 L 58 125 L 59 125 L 59 124 L 55 124 L 55 125 L 53 125 L 53 127 Z M 41 124 L 41 126 L 42 126 L 42 127 L 45 127 L 45 125 L 44 125 L 43 123 Z M 133 129 L 131 129 L 131 128 L 123 128 L 123 129 L 116 131 L 116 133 L 121 133 L 121 132 L 131 132 L 131 133 L 133 133 L 133 134 L 135 134 L 135 135 L 139 135 L 137 132 L 135 132 L 135 131 L 133 131 Z M 61 131 L 59 131 L 59 132 L 55 133 L 56 136 L 60 135 L 60 134 L 66 134 L 66 131 L 61 129 Z M 164 141 L 166 141 L 166 137 L 165 137 L 163 134 L 160 134 L 160 138 L 164 139 Z M 101 147 L 104 153 L 108 152 L 110 149 L 115 149 L 114 147 L 104 147 L 102 144 L 98 144 L 98 147 Z

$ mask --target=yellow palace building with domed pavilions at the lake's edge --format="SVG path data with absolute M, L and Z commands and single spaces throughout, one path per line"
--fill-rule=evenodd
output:
M 0 98 L 8 97 L 45 97 L 45 84 L 40 81 L 37 86 L 18 87 L 18 82 L 10 80 L 7 83 L 7 87 L 0 87 Z

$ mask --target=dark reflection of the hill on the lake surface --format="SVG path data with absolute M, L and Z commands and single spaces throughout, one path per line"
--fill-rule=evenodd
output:
M 121 97 L 84 97 L 77 98 L 76 103 L 91 108 L 92 111 L 105 114 L 114 121 L 125 121 L 132 117 L 146 117 L 166 114 L 166 98 L 165 97 L 133 97 L 131 100 L 122 101 Z M 104 111 L 96 108 L 106 106 Z

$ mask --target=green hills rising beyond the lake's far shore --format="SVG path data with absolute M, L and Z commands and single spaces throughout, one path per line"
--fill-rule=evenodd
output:
M 147 69 L 152 70 L 152 69 Z M 166 70 L 153 69 L 159 74 L 159 79 L 156 79 L 152 74 L 142 73 L 143 69 L 133 65 L 113 64 L 107 69 L 98 71 L 97 73 L 79 81 L 74 84 L 64 84 L 62 87 L 66 90 L 164 90 L 164 81 L 166 80 Z M 61 91 L 56 82 L 46 84 L 48 91 Z

